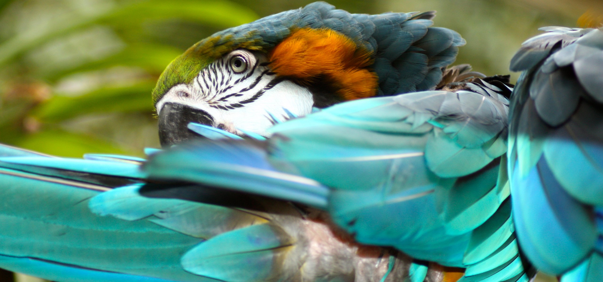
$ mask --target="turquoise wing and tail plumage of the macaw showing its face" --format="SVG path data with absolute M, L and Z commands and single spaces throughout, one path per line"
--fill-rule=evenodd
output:
M 0 159 L 3 196 L 16 202 L 0 210 L 14 217 L 0 262 L 64 281 L 295 275 L 285 254 L 307 248 L 291 225 L 303 218 L 295 201 L 330 211 L 359 242 L 467 268 L 463 281 L 527 281 L 497 176 L 507 99 L 486 81 L 463 87 L 349 102 L 283 122 L 265 142 L 197 141 L 147 162 L 5 149 L 17 157 Z

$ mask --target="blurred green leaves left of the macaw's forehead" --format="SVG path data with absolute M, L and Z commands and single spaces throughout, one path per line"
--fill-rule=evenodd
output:
M 230 1 L 0 1 L 0 142 L 71 157 L 157 147 L 163 68 L 257 17 Z

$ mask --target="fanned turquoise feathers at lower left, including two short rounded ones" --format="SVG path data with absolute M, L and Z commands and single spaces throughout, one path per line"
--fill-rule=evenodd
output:
M 265 281 L 292 245 L 267 213 L 140 196 L 137 158 L 0 148 L 16 156 L 0 159 L 1 268 L 67 282 Z

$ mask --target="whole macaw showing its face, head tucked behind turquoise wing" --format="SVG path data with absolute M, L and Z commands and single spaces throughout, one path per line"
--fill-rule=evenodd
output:
M 529 281 L 507 179 L 512 86 L 447 68 L 465 41 L 434 16 L 315 2 L 201 40 L 153 90 L 165 151 L 149 160 L 1 146 L 0 267 L 55 281 Z

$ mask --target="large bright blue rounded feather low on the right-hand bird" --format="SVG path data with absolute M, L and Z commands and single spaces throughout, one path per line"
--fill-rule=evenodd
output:
M 516 171 L 511 174 L 514 221 L 531 260 L 543 271 L 560 274 L 589 254 L 597 233 L 592 213 L 555 181 L 544 158 L 538 163 L 527 178 Z M 563 255 L 563 260 L 557 255 Z

